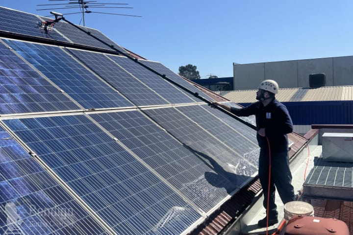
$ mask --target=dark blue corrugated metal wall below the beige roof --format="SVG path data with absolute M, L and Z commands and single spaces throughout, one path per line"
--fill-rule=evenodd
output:
M 250 103 L 240 103 L 248 106 Z M 283 102 L 294 125 L 353 124 L 353 101 Z

